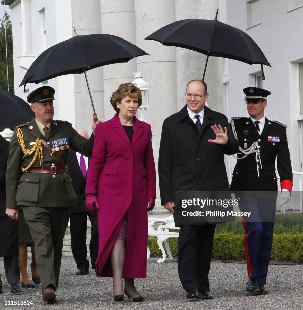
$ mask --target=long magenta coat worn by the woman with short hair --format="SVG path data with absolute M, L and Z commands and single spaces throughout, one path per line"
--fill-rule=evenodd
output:
M 86 179 L 100 209 L 97 276 L 112 277 L 110 253 L 127 212 L 123 278 L 146 278 L 147 204 L 156 197 L 156 172 L 149 124 L 134 118 L 132 142 L 118 114 L 97 125 Z

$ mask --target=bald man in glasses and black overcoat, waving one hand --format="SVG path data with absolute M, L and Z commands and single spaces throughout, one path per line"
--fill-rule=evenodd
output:
M 174 213 L 177 191 L 229 191 L 224 154 L 239 144 L 225 115 L 205 106 L 207 85 L 190 81 L 186 105 L 164 120 L 159 151 L 161 203 Z M 178 273 L 188 300 L 212 299 L 208 280 L 215 224 L 183 225 Z

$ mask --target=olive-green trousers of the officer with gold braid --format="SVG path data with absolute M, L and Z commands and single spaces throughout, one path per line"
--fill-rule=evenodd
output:
M 63 238 L 70 208 L 23 207 L 23 214 L 35 243 L 35 256 L 42 288 L 59 285 Z

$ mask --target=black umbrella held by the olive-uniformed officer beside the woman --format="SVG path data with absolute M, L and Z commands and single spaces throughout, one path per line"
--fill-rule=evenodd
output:
M 21 84 L 40 83 L 56 76 L 84 73 L 94 109 L 86 71 L 134 57 L 149 55 L 123 38 L 110 34 L 75 35 L 40 54 L 27 70 Z

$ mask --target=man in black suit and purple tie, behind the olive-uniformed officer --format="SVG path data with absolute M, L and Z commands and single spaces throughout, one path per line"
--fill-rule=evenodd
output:
M 79 129 L 77 132 L 88 139 L 86 130 Z M 81 276 L 87 275 L 89 269 L 86 249 L 87 216 L 91 223 L 91 238 L 89 243 L 90 262 L 92 268 L 95 269 L 99 249 L 98 216 L 97 213 L 89 213 L 85 206 L 88 158 L 81 156 L 80 153 L 71 149 L 68 157 L 68 167 L 72 185 L 77 195 L 77 200 L 71 208 L 70 215 L 71 248 L 78 268 L 76 275 Z

